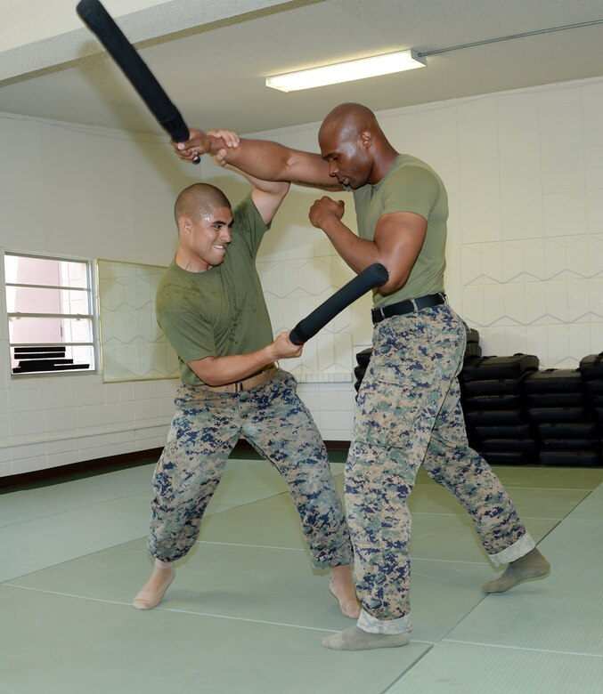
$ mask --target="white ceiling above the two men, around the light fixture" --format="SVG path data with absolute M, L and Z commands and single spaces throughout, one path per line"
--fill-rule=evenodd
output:
M 0 111 L 162 133 L 75 12 L 0 0 Z M 603 76 L 603 0 L 106 0 L 189 125 L 240 133 L 315 122 L 341 101 L 374 110 Z M 428 68 L 297 93 L 264 78 L 403 48 Z

